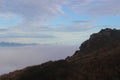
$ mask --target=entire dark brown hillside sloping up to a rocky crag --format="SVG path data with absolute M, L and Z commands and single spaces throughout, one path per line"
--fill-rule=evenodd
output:
M 120 30 L 103 29 L 71 57 L 17 70 L 0 80 L 120 80 Z

